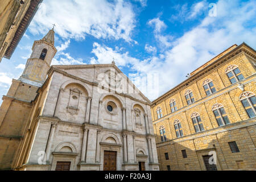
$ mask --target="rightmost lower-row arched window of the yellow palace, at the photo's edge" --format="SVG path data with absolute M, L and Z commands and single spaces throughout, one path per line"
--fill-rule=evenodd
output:
M 246 113 L 249 118 L 256 117 L 256 98 L 253 92 L 243 92 L 240 97 L 243 107 L 245 107 Z

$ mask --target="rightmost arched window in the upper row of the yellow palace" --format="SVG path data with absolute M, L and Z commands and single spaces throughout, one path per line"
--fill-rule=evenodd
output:
M 243 77 L 238 66 L 234 65 L 234 64 L 232 64 L 228 68 L 226 68 L 225 73 L 226 73 L 226 75 L 228 75 L 229 80 L 232 84 L 234 84 L 240 80 L 243 80 L 245 78 L 245 77 Z

